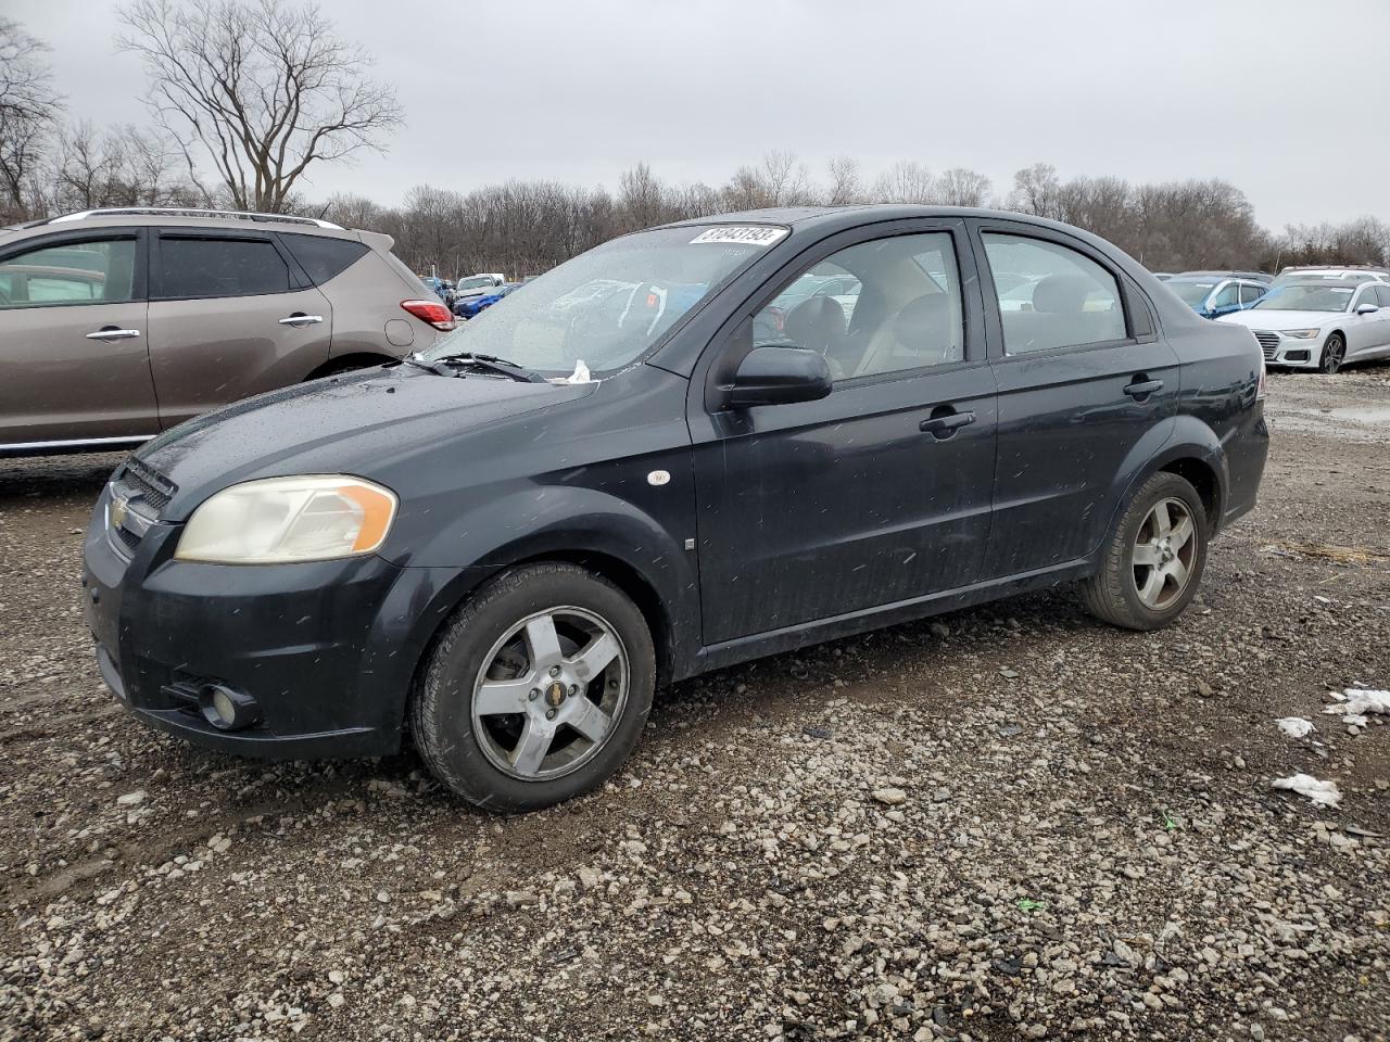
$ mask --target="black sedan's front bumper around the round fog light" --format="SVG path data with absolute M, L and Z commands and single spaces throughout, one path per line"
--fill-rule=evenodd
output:
M 242 756 L 379 756 L 404 703 L 439 593 L 457 570 L 379 557 L 286 565 L 175 561 L 181 525 L 138 540 L 101 493 L 83 547 L 83 610 L 101 677 L 150 727 Z M 260 721 L 222 731 L 189 702 L 210 682 L 250 695 Z

